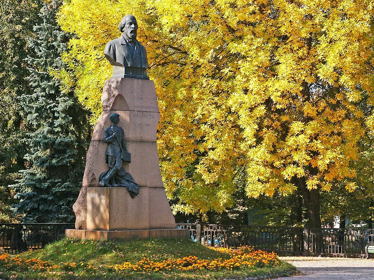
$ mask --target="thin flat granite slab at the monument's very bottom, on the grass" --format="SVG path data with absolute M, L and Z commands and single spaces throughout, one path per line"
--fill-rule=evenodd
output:
M 188 238 L 187 229 L 158 229 L 158 230 L 65 230 L 67 237 L 77 239 L 111 240 L 126 239 L 139 240 L 150 238 Z

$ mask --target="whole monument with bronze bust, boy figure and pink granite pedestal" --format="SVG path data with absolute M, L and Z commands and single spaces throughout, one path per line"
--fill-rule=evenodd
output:
M 73 205 L 75 229 L 65 231 L 70 237 L 188 237 L 188 230 L 175 227 L 163 187 L 156 144 L 160 113 L 137 29 L 135 17 L 126 15 L 119 25 L 122 35 L 105 46 L 113 76 L 105 81 L 103 111 Z

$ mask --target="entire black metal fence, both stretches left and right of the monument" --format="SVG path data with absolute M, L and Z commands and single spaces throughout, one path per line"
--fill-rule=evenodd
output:
M 14 253 L 40 249 L 65 237 L 74 224 L 0 224 L 0 248 Z M 177 224 L 190 230 L 190 239 L 206 246 L 237 248 L 242 245 L 276 252 L 280 256 L 364 257 L 374 245 L 374 229 L 234 226 Z

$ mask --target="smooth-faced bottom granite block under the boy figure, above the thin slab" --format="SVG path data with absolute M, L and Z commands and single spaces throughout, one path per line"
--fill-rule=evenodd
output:
M 88 187 L 86 217 L 86 230 L 175 229 L 164 188 L 141 187 L 132 198 L 125 187 Z

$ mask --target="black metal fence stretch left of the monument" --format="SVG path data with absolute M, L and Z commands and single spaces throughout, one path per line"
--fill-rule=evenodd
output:
M 74 224 L 0 224 L 0 249 L 16 253 L 40 249 L 65 237 L 65 229 Z

